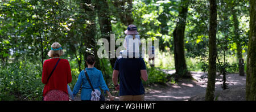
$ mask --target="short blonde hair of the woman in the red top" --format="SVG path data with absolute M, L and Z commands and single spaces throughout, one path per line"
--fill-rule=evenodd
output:
M 60 47 L 61 47 L 61 45 L 59 44 L 59 42 L 54 42 L 51 45 L 51 48 L 53 48 L 53 49 L 58 49 Z M 53 58 L 53 57 L 60 57 L 63 54 L 64 54 L 64 51 L 62 49 L 60 49 L 60 50 L 49 50 L 47 55 L 49 57 Z

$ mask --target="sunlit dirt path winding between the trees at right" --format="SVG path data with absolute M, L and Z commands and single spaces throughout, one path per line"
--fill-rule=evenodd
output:
M 191 97 L 204 95 L 207 87 L 207 80 L 202 80 L 200 77 L 204 76 L 203 72 L 192 72 L 192 76 L 195 80 L 187 80 L 183 79 L 177 84 L 167 84 L 163 85 L 156 85 L 155 89 L 148 88 L 146 91 L 145 99 L 148 101 L 166 101 L 166 100 L 189 100 Z M 227 75 L 227 85 L 231 91 L 225 93 L 225 95 L 232 94 L 233 89 L 242 90 L 245 92 L 245 76 L 239 76 L 238 74 L 228 74 Z M 221 88 L 222 82 L 216 81 L 216 92 L 221 92 L 223 89 Z M 239 92 L 239 91 L 238 91 Z M 245 93 L 239 93 L 245 95 Z M 238 96 L 237 96 L 238 97 Z M 245 100 L 242 96 L 239 99 L 233 97 L 234 100 Z M 221 100 L 221 99 L 219 99 Z M 232 100 L 232 99 L 222 99 L 222 100 Z

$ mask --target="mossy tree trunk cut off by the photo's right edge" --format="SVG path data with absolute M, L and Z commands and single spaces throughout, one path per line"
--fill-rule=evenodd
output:
M 256 100 L 256 1 L 250 0 L 250 31 L 246 69 L 246 100 Z

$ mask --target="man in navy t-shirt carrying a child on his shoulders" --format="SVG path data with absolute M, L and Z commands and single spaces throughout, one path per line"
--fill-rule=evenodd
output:
M 120 84 L 118 84 L 118 75 Z M 143 101 L 142 80 L 147 81 L 146 65 L 143 58 L 118 57 L 114 64 L 113 83 L 119 91 L 120 101 Z

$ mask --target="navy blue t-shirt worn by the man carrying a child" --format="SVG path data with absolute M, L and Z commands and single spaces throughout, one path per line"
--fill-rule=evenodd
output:
M 141 70 L 146 70 L 143 58 L 118 58 L 114 70 L 119 71 L 119 96 L 142 95 L 144 88 L 141 81 Z

